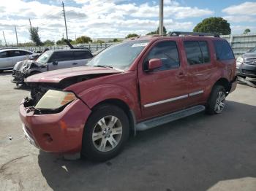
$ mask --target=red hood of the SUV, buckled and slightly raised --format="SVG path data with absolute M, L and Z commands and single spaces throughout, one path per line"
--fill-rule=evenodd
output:
M 75 68 L 59 69 L 54 71 L 47 71 L 42 74 L 36 74 L 26 78 L 25 82 L 59 83 L 63 79 L 69 79 L 73 77 L 86 76 L 90 74 L 118 74 L 121 72 L 122 71 L 110 68 L 80 66 Z

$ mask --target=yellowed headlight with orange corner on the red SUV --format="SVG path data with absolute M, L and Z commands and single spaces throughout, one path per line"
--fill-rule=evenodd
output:
M 75 100 L 75 94 L 58 90 L 48 90 L 38 101 L 35 109 L 59 109 Z

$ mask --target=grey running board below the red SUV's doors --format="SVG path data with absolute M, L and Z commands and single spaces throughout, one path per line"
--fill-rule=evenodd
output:
M 178 112 L 174 112 L 171 114 L 167 114 L 161 117 L 157 117 L 151 120 L 147 120 L 144 122 L 140 122 L 135 125 L 136 130 L 147 130 L 149 128 L 154 128 L 159 125 L 163 125 L 167 122 L 172 122 L 178 119 L 181 119 L 183 117 L 188 117 L 189 115 L 196 114 L 199 112 L 203 112 L 206 109 L 205 106 L 199 105 L 199 106 L 192 106 L 187 109 L 183 109 Z

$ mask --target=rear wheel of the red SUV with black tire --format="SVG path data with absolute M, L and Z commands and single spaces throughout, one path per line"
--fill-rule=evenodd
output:
M 207 114 L 220 114 L 225 108 L 226 90 L 222 85 L 214 85 L 206 104 Z

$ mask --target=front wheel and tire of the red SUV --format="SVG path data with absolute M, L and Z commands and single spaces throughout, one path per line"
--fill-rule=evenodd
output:
M 128 137 L 127 114 L 118 106 L 97 106 L 83 130 L 81 155 L 89 160 L 109 160 L 121 152 Z

